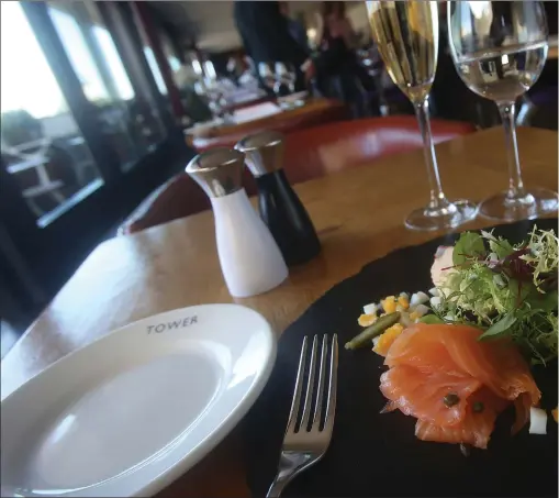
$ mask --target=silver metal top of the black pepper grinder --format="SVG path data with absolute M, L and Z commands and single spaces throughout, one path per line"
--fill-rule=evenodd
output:
M 283 168 L 283 135 L 273 131 L 255 133 L 235 145 L 245 154 L 246 165 L 258 178 Z

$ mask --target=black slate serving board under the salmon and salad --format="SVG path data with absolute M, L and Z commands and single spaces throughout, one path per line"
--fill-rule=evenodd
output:
M 519 242 L 534 222 L 495 229 Z M 538 228 L 557 229 L 557 220 L 538 220 Z M 248 486 L 266 495 L 276 474 L 291 405 L 304 335 L 339 337 L 338 392 L 334 434 L 324 458 L 297 477 L 284 496 L 557 496 L 557 424 L 549 418 L 547 435 L 527 429 L 512 438 L 512 412 L 500 418 L 487 451 L 465 457 L 457 445 L 415 439 L 415 419 L 400 412 L 380 414 L 382 358 L 368 348 L 344 350 L 359 332 L 362 306 L 401 291 L 432 287 L 429 268 L 438 245 L 456 235 L 395 251 L 366 265 L 314 302 L 281 335 L 278 358 L 262 395 L 243 422 Z M 557 364 L 537 373 L 544 405 L 557 406 Z M 512 411 L 512 410 L 511 410 Z

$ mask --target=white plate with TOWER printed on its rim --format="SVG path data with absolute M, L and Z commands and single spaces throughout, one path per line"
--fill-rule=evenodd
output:
M 257 312 L 206 305 L 126 325 L 1 405 L 1 496 L 149 496 L 208 454 L 271 372 Z

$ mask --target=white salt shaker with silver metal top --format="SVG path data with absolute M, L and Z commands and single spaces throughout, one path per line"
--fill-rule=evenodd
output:
M 276 241 L 243 188 L 245 156 L 213 148 L 187 166 L 212 202 L 221 268 L 230 294 L 243 298 L 266 292 L 288 276 Z

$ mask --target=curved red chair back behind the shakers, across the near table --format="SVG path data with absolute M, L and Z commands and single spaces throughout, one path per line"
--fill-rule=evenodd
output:
M 435 143 L 476 131 L 468 123 L 432 120 Z M 284 170 L 291 184 L 369 164 L 391 154 L 423 146 L 415 117 L 395 115 L 327 123 L 286 135 Z M 248 169 L 245 189 L 256 193 Z M 194 181 L 180 174 L 161 186 L 124 221 L 119 234 L 128 234 L 210 208 Z

